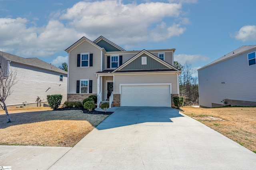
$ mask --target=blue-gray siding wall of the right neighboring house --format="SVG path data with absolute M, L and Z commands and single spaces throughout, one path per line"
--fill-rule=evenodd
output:
M 247 54 L 198 70 L 201 106 L 223 105 L 223 99 L 256 102 L 256 65 L 248 66 Z

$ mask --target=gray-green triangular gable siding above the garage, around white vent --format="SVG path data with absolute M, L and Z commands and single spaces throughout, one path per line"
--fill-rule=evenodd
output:
M 146 57 L 146 64 L 142 65 L 142 57 Z M 144 70 L 144 69 L 170 69 L 166 65 L 156 61 L 149 55 L 142 53 L 139 57 L 134 59 L 131 63 L 120 70 Z

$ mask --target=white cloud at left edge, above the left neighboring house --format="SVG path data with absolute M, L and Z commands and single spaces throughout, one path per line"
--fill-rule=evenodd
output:
M 48 57 L 63 50 L 84 34 L 66 28 L 57 20 L 50 20 L 44 27 L 27 27 L 26 18 L 0 18 L 0 47 L 22 57 Z

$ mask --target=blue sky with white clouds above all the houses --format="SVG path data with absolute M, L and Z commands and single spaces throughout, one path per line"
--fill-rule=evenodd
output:
M 175 48 L 195 71 L 256 44 L 255 0 L 0 0 L 0 51 L 60 66 L 85 36 L 126 50 Z

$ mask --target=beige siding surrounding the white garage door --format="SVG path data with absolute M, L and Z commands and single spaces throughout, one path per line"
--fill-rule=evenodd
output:
M 172 83 L 172 94 L 178 94 L 176 73 L 122 74 L 114 77 L 114 94 L 120 94 L 120 84 Z

